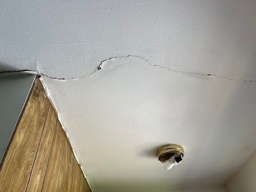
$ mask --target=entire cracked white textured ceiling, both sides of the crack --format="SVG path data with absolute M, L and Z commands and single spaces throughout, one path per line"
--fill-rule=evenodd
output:
M 256 148 L 255 9 L 1 1 L 0 70 L 42 75 L 94 192 L 220 185 Z M 170 171 L 165 143 L 185 147 Z

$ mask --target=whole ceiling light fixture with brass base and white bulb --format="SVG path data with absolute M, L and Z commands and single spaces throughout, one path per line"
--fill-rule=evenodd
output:
M 163 167 L 167 170 L 179 164 L 184 155 L 182 146 L 177 144 L 166 144 L 159 147 L 156 151 L 158 160 L 163 163 Z

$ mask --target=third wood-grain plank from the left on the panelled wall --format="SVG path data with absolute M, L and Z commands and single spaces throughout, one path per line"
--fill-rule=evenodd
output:
M 59 122 L 56 124 L 55 136 L 51 146 L 50 157 L 46 169 L 42 191 L 56 191 L 60 173 L 65 139 Z

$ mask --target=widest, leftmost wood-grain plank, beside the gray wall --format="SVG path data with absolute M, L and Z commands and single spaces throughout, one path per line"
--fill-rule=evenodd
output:
M 0 191 L 26 190 L 48 108 L 49 101 L 38 80 L 2 164 Z

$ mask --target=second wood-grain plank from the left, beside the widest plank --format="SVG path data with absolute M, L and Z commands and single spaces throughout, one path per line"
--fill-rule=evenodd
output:
M 49 160 L 57 116 L 50 105 L 26 191 L 41 191 Z

